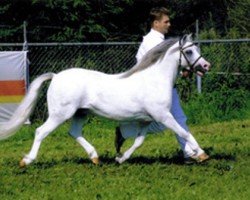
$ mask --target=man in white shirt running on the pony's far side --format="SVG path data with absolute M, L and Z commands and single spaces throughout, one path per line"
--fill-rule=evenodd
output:
M 164 7 L 153 8 L 150 11 L 149 17 L 151 23 L 151 30 L 146 36 L 143 37 L 143 41 L 136 54 L 137 62 L 140 62 L 142 57 L 150 49 L 152 49 L 153 47 L 157 46 L 158 44 L 164 41 L 164 35 L 168 33 L 168 30 L 171 26 L 168 10 Z M 187 74 L 186 72 L 182 76 L 187 77 L 188 75 L 189 74 Z M 188 126 L 186 124 L 187 117 L 185 116 L 181 108 L 179 95 L 177 93 L 176 88 L 173 88 L 172 98 L 173 99 L 172 99 L 171 113 L 174 116 L 175 120 L 180 124 L 180 126 L 189 132 Z M 157 123 L 155 121 L 145 126 L 146 127 L 142 127 L 142 125 L 137 122 L 121 123 L 120 127 L 116 128 L 116 137 L 115 137 L 116 152 L 119 154 L 121 146 L 123 145 L 124 141 L 129 137 L 136 137 L 138 134 L 140 134 L 142 129 L 146 128 L 147 132 L 151 133 L 161 132 L 166 129 L 166 127 L 163 124 Z M 198 152 L 194 152 L 183 138 L 178 136 L 178 134 L 175 135 L 183 151 L 184 162 L 186 164 L 203 162 L 209 158 L 209 156 L 204 152 L 204 150 L 199 148 Z

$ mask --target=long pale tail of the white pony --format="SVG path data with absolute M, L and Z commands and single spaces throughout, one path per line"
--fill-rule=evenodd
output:
M 52 79 L 54 75 L 54 73 L 43 74 L 31 83 L 28 93 L 14 112 L 11 119 L 0 125 L 0 140 L 14 135 L 14 133 L 29 118 L 36 105 L 39 89 L 41 88 L 43 82 Z

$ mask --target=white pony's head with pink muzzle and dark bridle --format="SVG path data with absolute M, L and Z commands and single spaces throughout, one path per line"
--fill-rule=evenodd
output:
M 179 40 L 179 65 L 185 70 L 203 76 L 210 68 L 210 63 L 200 54 L 200 49 L 193 43 L 192 36 L 185 35 Z

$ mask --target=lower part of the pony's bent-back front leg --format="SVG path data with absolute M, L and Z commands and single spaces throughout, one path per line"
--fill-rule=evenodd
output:
M 121 157 L 116 157 L 115 160 L 122 164 L 125 160 L 129 159 L 132 153 L 139 148 L 145 139 L 145 135 L 139 135 L 135 138 L 134 144 L 127 150 Z

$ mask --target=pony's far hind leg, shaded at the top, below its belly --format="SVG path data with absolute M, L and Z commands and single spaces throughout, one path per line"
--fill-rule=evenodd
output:
M 97 165 L 99 164 L 99 158 L 95 148 L 82 136 L 82 127 L 87 115 L 81 112 L 78 111 L 74 115 L 69 134 L 85 149 L 89 158 Z

